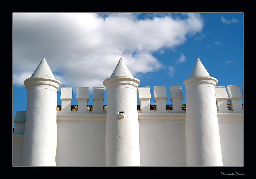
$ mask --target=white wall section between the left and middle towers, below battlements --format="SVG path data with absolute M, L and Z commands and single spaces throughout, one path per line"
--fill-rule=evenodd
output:
M 105 166 L 106 114 L 57 115 L 57 166 Z

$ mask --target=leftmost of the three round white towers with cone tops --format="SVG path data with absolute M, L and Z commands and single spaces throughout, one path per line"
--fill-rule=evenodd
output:
M 28 96 L 22 165 L 55 166 L 57 91 L 61 83 L 43 58 L 24 85 Z

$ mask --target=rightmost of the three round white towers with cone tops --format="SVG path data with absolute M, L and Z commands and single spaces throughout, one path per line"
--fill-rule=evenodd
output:
M 185 121 L 188 166 L 222 166 L 215 86 L 203 64 L 196 60 L 191 75 L 183 82 L 186 88 Z

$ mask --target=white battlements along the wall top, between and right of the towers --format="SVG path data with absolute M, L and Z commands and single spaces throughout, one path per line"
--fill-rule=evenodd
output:
M 61 105 L 56 111 L 64 113 L 106 113 L 107 105 L 103 105 L 104 87 L 93 87 L 94 105 L 87 105 L 89 101 L 89 88 L 77 87 L 76 99 L 78 105 L 71 105 L 72 87 L 61 87 Z M 185 113 L 187 105 L 182 104 L 183 94 L 181 86 L 170 86 L 172 104 L 166 104 L 167 93 L 165 86 L 154 86 L 154 100 L 156 105 L 150 104 L 150 87 L 138 88 L 139 103 L 138 113 Z M 216 106 L 218 113 L 242 113 L 242 93 L 237 85 L 215 87 Z M 228 100 L 230 104 L 228 104 Z

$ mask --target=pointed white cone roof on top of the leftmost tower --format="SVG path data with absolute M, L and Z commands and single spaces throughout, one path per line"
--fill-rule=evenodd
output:
M 33 78 L 33 77 L 55 79 L 54 75 L 52 74 L 52 70 L 50 69 L 45 58 L 42 59 L 42 61 L 39 63 L 35 72 L 32 74 L 30 78 Z

